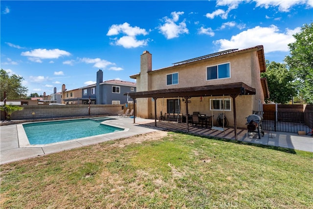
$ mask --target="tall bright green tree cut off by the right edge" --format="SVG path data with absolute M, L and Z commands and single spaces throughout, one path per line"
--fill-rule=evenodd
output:
M 289 44 L 290 55 L 285 57 L 296 84 L 307 104 L 313 104 L 313 23 L 304 24 L 296 39 Z

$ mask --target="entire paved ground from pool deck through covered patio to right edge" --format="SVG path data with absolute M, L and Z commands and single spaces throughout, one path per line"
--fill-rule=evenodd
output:
M 146 134 L 162 131 L 179 131 L 186 132 L 185 123 L 175 123 L 168 121 L 157 121 L 157 127 L 155 126 L 155 120 L 135 118 L 135 124 L 133 118 L 109 116 L 115 120 L 107 120 L 107 124 L 112 124 L 119 127 L 124 127 L 127 131 L 111 133 L 107 135 L 94 136 L 85 139 L 75 139 L 68 142 L 49 144 L 43 146 L 26 146 L 21 147 L 19 144 L 18 126 L 14 125 L 2 125 L 0 126 L 0 164 L 16 162 L 27 158 L 33 158 L 36 156 L 42 156 L 50 153 L 61 152 L 63 150 L 73 149 L 76 147 L 82 147 L 90 144 L 101 143 L 108 140 L 121 139 L 132 137 L 139 134 Z M 189 133 L 200 136 L 211 136 L 214 138 L 222 139 L 235 139 L 234 129 L 225 128 L 224 131 L 205 129 L 201 127 L 189 126 Z M 257 139 L 257 133 L 251 137 L 247 136 L 246 129 L 237 129 L 238 140 L 263 144 L 269 146 L 277 146 L 290 148 L 294 150 L 303 150 L 313 152 L 313 137 L 306 135 L 297 135 L 287 132 L 272 132 L 265 131 L 264 137 L 261 135 L 261 139 Z

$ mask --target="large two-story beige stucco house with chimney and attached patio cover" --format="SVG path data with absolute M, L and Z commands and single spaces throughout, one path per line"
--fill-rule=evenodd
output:
M 197 57 L 173 66 L 152 70 L 152 55 L 144 51 L 136 79 L 136 116 L 158 118 L 160 112 L 193 112 L 207 116 L 224 113 L 229 126 L 246 127 L 252 111 L 262 111 L 269 97 L 267 82 L 260 78 L 266 71 L 263 46 L 230 49 Z M 156 114 L 155 114 L 156 113 Z M 188 131 L 188 127 L 187 127 Z

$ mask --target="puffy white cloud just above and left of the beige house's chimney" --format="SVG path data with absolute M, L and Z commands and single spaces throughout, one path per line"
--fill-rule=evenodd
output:
M 129 23 L 113 24 L 109 28 L 107 36 L 118 36 L 122 34 L 120 38 L 111 39 L 111 45 L 123 46 L 125 48 L 135 48 L 138 46 L 147 46 L 149 39 L 137 40 L 136 36 L 147 35 L 146 29 L 138 26 L 132 27 Z

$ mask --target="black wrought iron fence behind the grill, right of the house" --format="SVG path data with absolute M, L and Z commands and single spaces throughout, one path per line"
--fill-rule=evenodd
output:
M 313 113 L 253 111 L 253 114 L 263 116 L 262 128 L 264 130 L 309 133 L 313 129 Z

